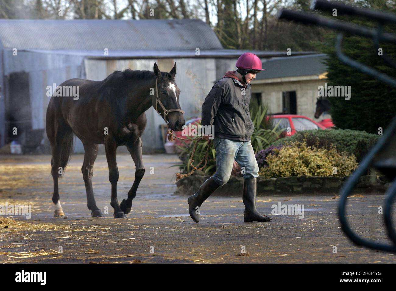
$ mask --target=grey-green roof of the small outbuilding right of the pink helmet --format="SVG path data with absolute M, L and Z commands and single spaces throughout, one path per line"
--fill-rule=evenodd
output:
M 320 75 L 327 71 L 326 65 L 322 63 L 326 57 L 325 53 L 321 53 L 272 58 L 263 62 L 265 71 L 257 74 L 256 80 Z

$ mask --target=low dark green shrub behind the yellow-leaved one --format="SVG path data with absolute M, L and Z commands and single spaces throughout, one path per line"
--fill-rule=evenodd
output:
M 327 150 L 335 146 L 338 152 L 347 152 L 349 155 L 354 154 L 356 160 L 360 162 L 375 143 L 377 143 L 379 138 L 379 135 L 367 133 L 366 131 L 350 129 L 313 129 L 299 131 L 291 137 L 284 137 L 275 141 L 272 145 L 290 145 L 296 141 L 300 143 L 305 141 L 307 146 L 315 146 Z

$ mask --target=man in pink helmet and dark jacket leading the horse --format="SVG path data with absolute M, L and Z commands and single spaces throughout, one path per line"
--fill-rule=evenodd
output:
M 253 53 L 242 54 L 236 62 L 236 67 L 236 71 L 228 71 L 212 87 L 202 105 L 202 126 L 214 126 L 216 173 L 187 200 L 190 216 L 196 223 L 200 220 L 202 203 L 230 179 L 234 160 L 244 169 L 244 222 L 271 220 L 256 209 L 256 179 L 259 176 L 259 165 L 250 140 L 253 122 L 249 111 L 249 83 L 263 68 L 259 57 Z M 208 140 L 208 135 L 203 139 Z

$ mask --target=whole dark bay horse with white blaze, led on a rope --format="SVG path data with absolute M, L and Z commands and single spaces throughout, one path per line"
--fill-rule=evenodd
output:
M 103 81 L 70 79 L 60 87 L 78 87 L 79 96 L 66 97 L 53 94 L 48 104 L 46 130 L 52 149 L 51 175 L 53 177 L 52 202 L 55 216 L 65 213 L 59 201 L 58 179 L 63 175 L 73 150 L 76 135 L 83 143 L 85 156 L 82 175 L 87 192 L 88 209 L 92 217 L 103 217 L 93 197 L 92 175 L 98 145 L 105 145 L 111 202 L 114 218 L 125 218 L 131 211 L 132 199 L 145 173 L 142 161 L 141 135 L 146 127 L 145 111 L 154 106 L 174 131 L 185 124 L 180 108 L 180 89 L 175 83 L 176 63 L 172 70 L 161 72 L 156 63 L 154 70 L 115 71 Z M 65 91 L 63 91 L 65 92 Z M 160 105 L 160 106 L 158 106 Z M 125 145 L 135 163 L 135 181 L 128 198 L 118 205 L 118 168 L 116 150 Z

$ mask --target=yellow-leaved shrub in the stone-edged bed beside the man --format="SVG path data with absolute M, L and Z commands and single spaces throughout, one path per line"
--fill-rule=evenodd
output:
M 346 152 L 339 153 L 335 147 L 316 148 L 306 143 L 293 142 L 280 150 L 270 153 L 267 165 L 262 167 L 259 175 L 271 177 L 320 176 L 345 177 L 356 169 L 355 156 Z M 336 167 L 337 173 L 333 174 Z

